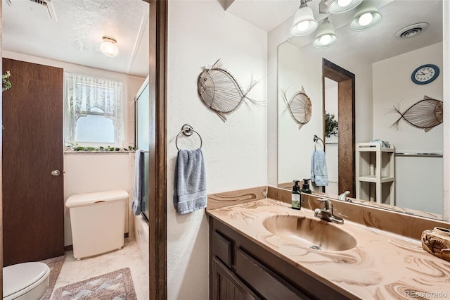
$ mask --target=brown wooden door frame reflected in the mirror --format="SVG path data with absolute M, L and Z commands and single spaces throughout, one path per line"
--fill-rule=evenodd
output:
M 355 196 L 355 75 L 322 58 L 323 115 L 325 115 L 325 77 L 338 82 L 338 192 Z M 325 123 L 325 121 L 323 121 Z M 323 128 L 325 125 L 323 124 Z M 323 132 L 325 141 L 325 132 Z

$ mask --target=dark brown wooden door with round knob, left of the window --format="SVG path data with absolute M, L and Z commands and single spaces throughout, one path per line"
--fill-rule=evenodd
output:
M 63 69 L 3 58 L 4 266 L 64 254 Z M 60 175 L 51 175 L 59 170 Z

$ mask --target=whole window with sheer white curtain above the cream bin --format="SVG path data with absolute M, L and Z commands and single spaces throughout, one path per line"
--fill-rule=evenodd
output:
M 123 146 L 122 82 L 65 73 L 64 142 Z

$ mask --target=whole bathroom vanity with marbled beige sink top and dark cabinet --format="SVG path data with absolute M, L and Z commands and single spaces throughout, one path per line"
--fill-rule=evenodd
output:
M 450 264 L 418 239 L 270 198 L 207 214 L 210 299 L 450 297 Z

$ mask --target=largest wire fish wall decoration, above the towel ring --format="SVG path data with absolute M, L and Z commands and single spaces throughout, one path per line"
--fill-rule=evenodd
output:
M 225 122 L 226 115 L 236 111 L 245 99 L 252 104 L 262 105 L 261 102 L 247 96 L 258 82 L 251 80 L 250 86 L 244 91 L 236 78 L 223 68 L 219 59 L 211 68 L 205 68 L 198 76 L 198 94 L 205 105 Z

